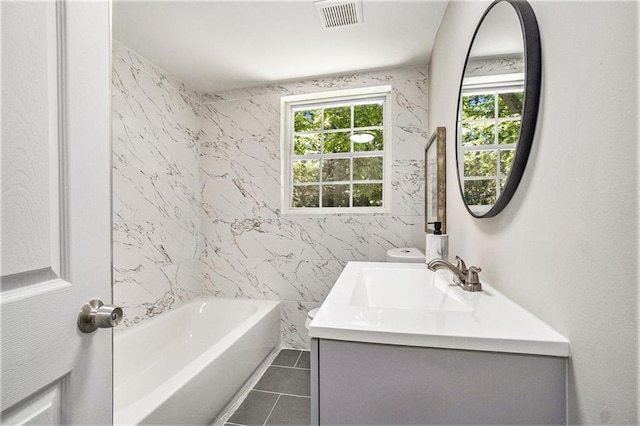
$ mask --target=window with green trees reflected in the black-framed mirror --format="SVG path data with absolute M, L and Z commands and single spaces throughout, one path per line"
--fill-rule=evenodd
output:
M 462 89 L 459 170 L 467 204 L 481 210 L 495 204 L 509 176 L 524 92 L 522 74 L 485 77 L 475 84 L 468 80 Z

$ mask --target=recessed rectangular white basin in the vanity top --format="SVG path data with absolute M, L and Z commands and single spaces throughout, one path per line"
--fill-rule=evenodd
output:
M 362 268 L 349 303 L 371 308 L 472 311 L 456 287 L 426 268 Z

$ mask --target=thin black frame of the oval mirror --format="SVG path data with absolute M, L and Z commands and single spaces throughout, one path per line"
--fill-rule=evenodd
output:
M 520 19 L 520 28 L 522 29 L 522 37 L 524 43 L 524 57 L 525 57 L 525 90 L 524 101 L 522 108 L 522 122 L 520 126 L 520 135 L 518 137 L 518 143 L 516 145 L 516 155 L 511 166 L 511 172 L 507 178 L 507 183 L 498 197 L 496 203 L 489 209 L 488 212 L 478 215 L 471 211 L 467 202 L 464 200 L 464 188 L 462 186 L 462 180 L 460 179 L 460 149 L 458 143 L 460 141 L 460 102 L 462 101 L 462 83 L 464 81 L 464 72 L 467 69 L 467 63 L 469 61 L 469 55 L 473 48 L 473 42 L 476 39 L 476 35 L 480 30 L 480 26 L 487 16 L 489 11 L 498 3 L 507 2 L 515 9 L 518 18 Z M 533 144 L 533 137 L 536 129 L 536 121 L 538 119 L 538 107 L 540 104 L 540 90 L 542 83 L 542 55 L 540 51 L 540 31 L 538 29 L 538 21 L 536 15 L 533 12 L 533 8 L 526 0 L 495 0 L 480 18 L 480 22 L 473 33 L 473 38 L 469 44 L 469 50 L 467 51 L 467 57 L 464 61 L 464 67 L 462 68 L 462 77 L 460 79 L 460 91 L 458 92 L 458 112 L 456 113 L 456 167 L 458 172 L 458 187 L 460 188 L 460 195 L 464 205 L 469 214 L 475 218 L 489 218 L 494 217 L 500 213 L 511 201 L 511 198 L 518 188 L 518 184 L 524 174 L 524 169 L 527 165 L 527 159 L 529 158 L 529 152 L 531 151 L 531 145 Z

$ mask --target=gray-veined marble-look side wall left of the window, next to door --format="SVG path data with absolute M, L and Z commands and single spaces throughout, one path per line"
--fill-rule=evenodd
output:
M 129 327 L 202 293 L 199 94 L 114 40 L 113 297 Z

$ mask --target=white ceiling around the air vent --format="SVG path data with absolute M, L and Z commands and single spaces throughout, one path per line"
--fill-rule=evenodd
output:
M 426 64 L 447 6 L 364 0 L 363 22 L 324 29 L 313 0 L 113 3 L 113 36 L 193 89 Z

